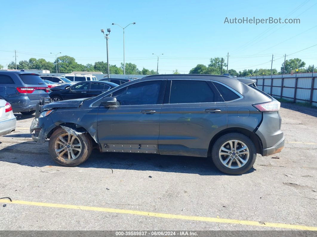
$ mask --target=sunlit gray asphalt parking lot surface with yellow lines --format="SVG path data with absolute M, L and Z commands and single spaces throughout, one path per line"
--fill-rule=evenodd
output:
M 208 159 L 99 153 L 55 164 L 34 116 L 0 137 L 0 230 L 317 230 L 317 109 L 284 103 L 281 153 L 233 176 Z M 3 207 L 3 204 L 7 204 Z

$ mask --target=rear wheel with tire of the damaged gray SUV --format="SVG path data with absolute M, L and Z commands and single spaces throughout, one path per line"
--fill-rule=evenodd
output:
M 241 133 L 229 133 L 216 140 L 211 158 L 221 172 L 243 174 L 256 161 L 256 147 L 249 137 Z

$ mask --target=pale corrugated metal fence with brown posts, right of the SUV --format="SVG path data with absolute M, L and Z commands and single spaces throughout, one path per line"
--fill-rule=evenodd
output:
M 256 79 L 257 87 L 275 98 L 317 106 L 317 73 L 246 77 Z

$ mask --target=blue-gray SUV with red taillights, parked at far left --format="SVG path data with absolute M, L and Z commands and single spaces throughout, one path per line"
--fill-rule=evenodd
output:
M 36 104 L 49 96 L 49 88 L 38 74 L 0 71 L 0 99 L 8 101 L 14 113 L 35 113 Z

